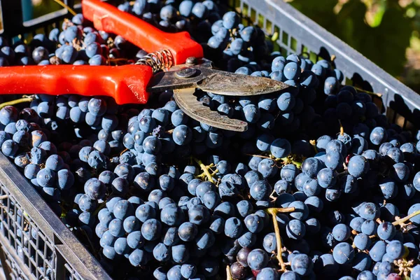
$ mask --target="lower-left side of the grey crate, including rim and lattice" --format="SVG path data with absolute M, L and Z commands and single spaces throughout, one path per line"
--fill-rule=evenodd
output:
M 14 279 L 111 279 L 1 153 L 0 167 L 0 258 L 5 274 Z

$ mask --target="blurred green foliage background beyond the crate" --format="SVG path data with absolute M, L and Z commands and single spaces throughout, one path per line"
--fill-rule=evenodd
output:
M 36 18 L 60 6 L 34 4 Z M 420 92 L 420 0 L 286 0 L 402 83 Z

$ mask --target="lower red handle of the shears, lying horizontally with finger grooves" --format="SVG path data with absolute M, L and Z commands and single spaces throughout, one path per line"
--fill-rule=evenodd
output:
M 0 67 L 0 94 L 106 95 L 117 104 L 145 104 L 150 66 L 10 66 Z

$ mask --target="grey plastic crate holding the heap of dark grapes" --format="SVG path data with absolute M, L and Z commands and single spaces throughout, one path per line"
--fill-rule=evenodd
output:
M 64 1 L 73 6 L 73 0 Z M 284 55 L 307 53 L 313 60 L 335 55 L 346 84 L 377 92 L 388 120 L 408 129 L 420 125 L 420 97 L 349 45 L 281 0 L 221 0 L 244 22 L 279 34 L 275 48 Z M 20 1 L 0 0 L 3 36 L 47 33 L 69 17 L 66 9 L 23 22 Z M 77 6 L 75 7 L 77 8 Z M 6 10 L 14 13 L 4 13 Z M 111 279 L 99 262 L 59 220 L 8 158 L 0 153 L 0 260 L 6 279 Z M 33 233 L 33 236 L 32 234 Z M 12 278 L 10 278 L 12 276 Z

